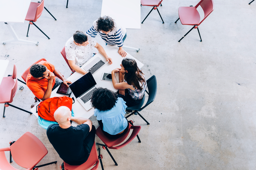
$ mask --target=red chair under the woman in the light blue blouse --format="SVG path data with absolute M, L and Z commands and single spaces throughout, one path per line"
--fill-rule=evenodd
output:
M 133 129 L 131 136 L 124 142 L 124 140 L 127 138 L 127 136 L 129 135 L 130 130 Z M 101 131 L 100 127 L 98 127 L 96 129 L 96 135 L 102 140 L 102 142 L 104 142 L 105 145 L 103 144 L 99 144 L 96 143 L 97 145 L 101 145 L 103 149 L 106 149 L 108 151 L 108 154 L 110 155 L 110 157 L 113 159 L 113 161 L 115 162 L 115 165 L 117 166 L 116 160 L 113 158 L 113 156 L 111 155 L 111 153 L 109 152 L 109 149 L 120 149 L 122 147 L 124 147 L 125 145 L 129 144 L 136 136 L 140 141 L 140 138 L 138 136 L 138 133 L 141 129 L 141 126 L 133 126 L 133 122 L 132 120 L 129 121 L 129 129 L 127 131 L 127 133 L 125 133 L 122 137 L 117 138 L 117 139 L 109 139 L 107 138 L 103 132 Z M 122 142 L 124 142 L 123 144 L 121 144 Z M 119 145 L 121 144 L 121 145 Z M 118 145 L 118 146 L 116 146 Z

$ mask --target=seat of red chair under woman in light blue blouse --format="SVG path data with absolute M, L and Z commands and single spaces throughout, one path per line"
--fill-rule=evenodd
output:
M 122 137 L 117 139 L 109 139 L 103 134 L 100 127 L 98 127 L 96 129 L 96 135 L 102 140 L 102 142 L 104 142 L 109 147 L 109 146 L 115 146 L 122 143 L 129 135 L 130 130 L 131 130 L 131 124 L 129 124 L 129 130 Z

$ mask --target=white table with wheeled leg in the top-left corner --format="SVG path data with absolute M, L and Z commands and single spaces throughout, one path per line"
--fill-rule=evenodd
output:
M 0 22 L 4 22 L 14 39 L 5 40 L 1 43 L 20 41 L 39 45 L 38 42 L 19 39 L 10 23 L 24 23 L 31 0 L 0 0 Z

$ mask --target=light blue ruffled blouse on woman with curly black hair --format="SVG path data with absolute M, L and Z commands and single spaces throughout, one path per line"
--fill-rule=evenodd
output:
M 97 120 L 102 120 L 103 131 L 116 135 L 126 129 L 128 122 L 124 117 L 127 108 L 125 103 L 122 98 L 118 97 L 112 109 L 106 111 L 94 109 L 94 116 L 97 116 Z

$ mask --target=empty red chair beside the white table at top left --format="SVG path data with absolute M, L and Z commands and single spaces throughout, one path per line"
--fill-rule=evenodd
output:
M 44 10 L 44 0 L 42 0 L 41 3 L 37 3 L 37 2 L 30 3 L 28 8 L 28 13 L 25 18 L 26 21 L 29 21 L 28 31 L 29 31 L 30 24 L 36 26 L 34 22 L 36 22 L 37 19 L 41 16 L 43 10 Z M 50 39 L 38 26 L 36 26 L 36 28 L 38 28 L 48 39 Z M 28 37 L 28 33 L 27 33 L 27 37 Z

